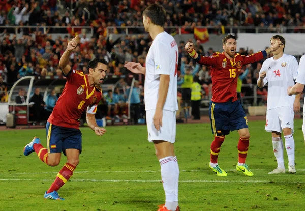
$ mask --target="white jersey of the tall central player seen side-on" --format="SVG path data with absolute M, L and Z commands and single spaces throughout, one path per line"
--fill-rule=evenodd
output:
M 145 110 L 156 109 L 160 75 L 169 75 L 169 87 L 163 109 L 178 110 L 177 103 L 178 47 L 173 36 L 159 33 L 150 46 L 146 57 L 144 100 Z

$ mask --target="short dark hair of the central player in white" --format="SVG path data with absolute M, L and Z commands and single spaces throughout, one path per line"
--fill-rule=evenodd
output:
M 155 25 L 164 27 L 166 11 L 165 11 L 164 7 L 162 7 L 161 5 L 159 5 L 157 3 L 149 5 L 144 10 L 143 15 L 148 17 L 151 20 L 151 22 L 154 23 Z

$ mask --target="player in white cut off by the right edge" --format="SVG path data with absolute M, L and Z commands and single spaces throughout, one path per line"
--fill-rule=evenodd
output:
M 287 94 L 288 95 L 298 95 L 301 94 L 304 90 L 305 85 L 305 55 L 302 55 L 300 62 L 299 62 L 299 68 L 298 68 L 298 75 L 296 77 L 296 84 L 292 87 L 288 87 Z M 305 101 L 305 99 L 304 99 Z M 304 135 L 304 141 L 305 141 L 305 103 L 303 105 L 303 125 L 302 125 L 302 131 Z

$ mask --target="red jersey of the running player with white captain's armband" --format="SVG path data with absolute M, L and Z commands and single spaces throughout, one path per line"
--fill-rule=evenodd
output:
M 66 78 L 64 91 L 48 122 L 59 127 L 79 129 L 79 119 L 87 107 L 91 107 L 88 113 L 96 113 L 102 99 L 102 89 L 99 86 L 90 87 L 88 75 L 77 70 L 71 69 Z

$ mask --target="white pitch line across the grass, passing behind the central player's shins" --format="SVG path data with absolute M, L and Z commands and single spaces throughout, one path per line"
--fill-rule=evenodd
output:
M 0 181 L 53 181 L 52 179 L 0 179 Z M 160 180 L 113 180 L 113 179 L 70 179 L 71 182 L 114 182 L 114 183 L 160 183 Z M 293 181 L 270 181 L 270 180 L 180 180 L 179 183 L 301 183 L 304 182 L 293 182 Z

